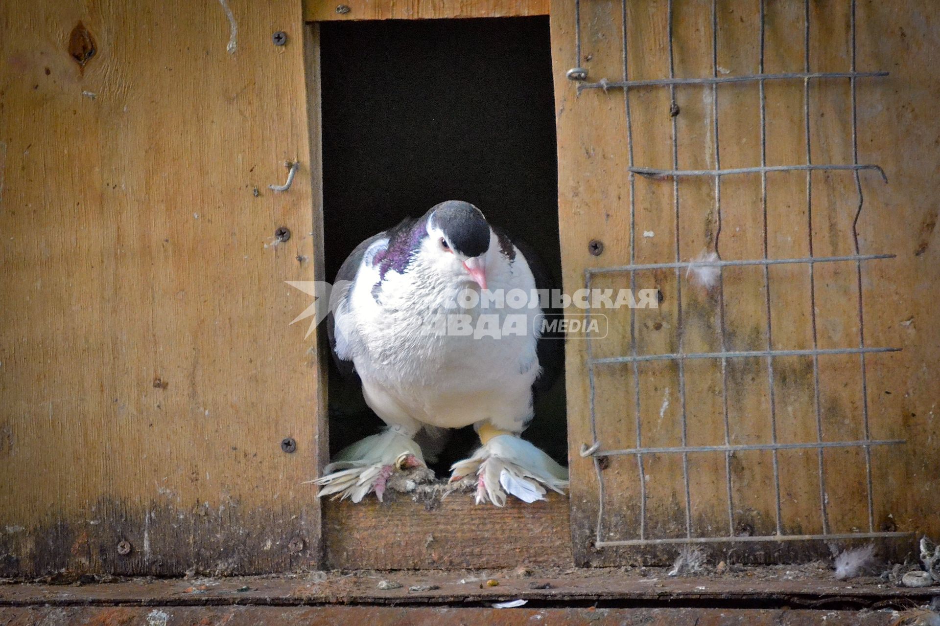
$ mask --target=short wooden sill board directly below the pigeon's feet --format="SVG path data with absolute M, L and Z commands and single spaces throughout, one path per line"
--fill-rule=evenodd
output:
M 323 537 L 330 567 L 412 570 L 572 563 L 568 498 L 548 496 L 502 508 L 476 505 L 470 494 L 429 502 L 327 501 Z M 386 498 L 387 499 L 387 498 Z

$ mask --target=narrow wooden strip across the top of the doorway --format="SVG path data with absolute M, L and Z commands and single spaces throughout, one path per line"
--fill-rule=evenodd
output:
M 549 0 L 304 0 L 307 22 L 429 20 L 548 15 Z M 349 10 L 337 11 L 337 7 Z

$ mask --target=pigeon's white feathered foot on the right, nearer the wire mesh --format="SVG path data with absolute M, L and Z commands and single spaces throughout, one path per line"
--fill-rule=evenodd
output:
M 481 438 L 483 429 L 480 429 Z M 450 481 L 477 475 L 477 504 L 506 504 L 506 492 L 524 502 L 545 499 L 545 487 L 564 495 L 568 470 L 516 435 L 494 435 L 473 456 L 450 467 Z M 506 490 L 505 492 L 503 490 Z

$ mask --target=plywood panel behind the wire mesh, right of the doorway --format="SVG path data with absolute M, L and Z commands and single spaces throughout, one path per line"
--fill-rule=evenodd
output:
M 753 6 L 752 6 L 753 5 Z M 885 8 L 859 3 L 857 67 L 887 69 L 887 78 L 860 79 L 858 159 L 885 167 L 891 182 L 863 173 L 865 206 L 858 222 L 860 252 L 895 252 L 897 259 L 863 266 L 865 343 L 897 346 L 901 353 L 871 355 L 866 360 L 871 438 L 904 438 L 896 448 L 873 448 L 873 529 L 937 534 L 935 493 L 940 486 L 940 453 L 928 442 L 940 435 L 934 417 L 935 385 L 940 374 L 937 316 L 927 304 L 940 288 L 934 255 L 937 192 L 935 149 L 940 136 L 938 105 L 925 84 L 935 83 L 938 69 L 926 51 L 940 38 L 940 26 L 925 18 L 929 3 L 910 1 Z M 623 91 L 586 90 L 565 79 L 567 69 L 580 65 L 590 81 L 623 77 L 668 76 L 666 2 L 619 2 L 581 5 L 582 57 L 575 58 L 574 11 L 571 3 L 552 6 L 553 58 L 559 155 L 559 211 L 565 287 L 584 286 L 584 269 L 617 266 L 630 260 L 629 179 L 625 100 Z M 848 3 L 811 3 L 810 67 L 814 71 L 846 71 L 851 64 Z M 717 65 L 721 75 L 758 73 L 760 20 L 758 3 L 718 3 Z M 623 24 L 629 51 L 624 60 Z M 801 3 L 767 3 L 765 71 L 803 69 L 804 16 Z M 710 76 L 711 3 L 676 3 L 673 18 L 675 72 L 681 77 Z M 931 80 L 932 77 L 934 80 Z M 677 154 L 671 145 L 668 88 L 637 88 L 629 95 L 636 165 L 671 169 L 709 169 L 760 165 L 760 92 L 757 84 L 717 88 L 720 145 L 713 140 L 710 86 L 676 88 Z M 812 162 L 852 162 L 851 90 L 847 80 L 813 82 L 810 86 Z M 806 162 L 802 82 L 768 82 L 767 163 Z M 858 200 L 848 172 L 814 172 L 811 176 L 812 253 L 817 256 L 854 253 L 852 222 Z M 767 176 L 767 254 L 790 258 L 809 254 L 810 206 L 807 175 L 801 172 Z M 672 179 L 637 176 L 635 181 L 635 260 L 638 263 L 688 261 L 702 250 L 713 250 L 718 237 L 714 183 L 709 178 L 683 178 L 678 185 L 678 210 Z M 761 258 L 763 214 L 760 175 L 729 176 L 721 183 L 721 235 L 724 259 Z M 644 234 L 648 235 L 644 235 Z M 675 236 L 678 234 L 679 244 Z M 590 256 L 587 242 L 603 240 L 603 254 Z M 931 261 L 931 259 L 934 259 Z M 729 350 L 807 349 L 813 346 L 809 270 L 803 266 L 771 267 L 770 310 L 760 268 L 724 271 L 726 327 Z M 854 264 L 832 264 L 814 270 L 817 344 L 823 348 L 852 347 L 859 342 L 858 288 Z M 626 275 L 606 275 L 594 286 L 629 286 Z M 676 276 L 672 270 L 638 272 L 638 288 L 659 288 L 664 300 L 658 311 L 636 315 L 640 354 L 722 349 L 721 317 L 715 292 L 709 293 Z M 682 315 L 677 290 L 682 287 Z M 629 354 L 629 313 L 610 313 L 608 338 L 595 342 L 594 356 Z M 682 328 L 682 333 L 679 332 Z M 602 450 L 681 444 L 679 372 L 673 363 L 643 363 L 639 379 L 630 365 L 597 368 L 594 393 L 596 420 L 589 421 L 590 387 L 587 348 L 569 342 L 567 383 L 569 440 L 572 445 L 572 532 L 579 564 L 619 564 L 638 558 L 667 560 L 675 548 L 592 547 L 600 515 L 603 540 L 639 538 L 641 479 L 635 456 L 611 456 L 600 465 L 575 452 L 596 440 Z M 864 438 L 863 391 L 857 356 L 821 357 L 819 364 L 822 438 L 824 441 Z M 727 376 L 727 377 L 726 377 Z M 727 381 L 727 382 L 726 382 Z M 635 386 L 640 414 L 635 411 Z M 728 399 L 731 444 L 767 443 L 772 439 L 771 395 L 766 359 L 729 359 L 726 375 L 720 362 L 688 362 L 684 369 L 686 436 L 689 445 L 725 442 L 723 398 Z M 783 443 L 812 442 L 817 433 L 812 359 L 774 361 L 776 437 Z M 639 431 L 640 435 L 637 434 Z M 774 534 L 776 487 L 774 455 L 769 451 L 723 454 L 692 453 L 688 469 L 678 454 L 644 458 L 647 537 L 682 537 L 686 519 L 694 536 L 729 532 Z M 784 533 L 804 534 L 868 531 L 868 481 L 863 450 L 825 450 L 820 483 L 816 450 L 781 450 L 781 520 Z M 600 514 L 599 469 L 604 481 Z M 684 477 L 689 480 L 686 506 Z M 732 505 L 728 506 L 726 471 Z M 825 525 L 823 525 L 823 502 Z M 885 550 L 903 553 L 909 542 L 885 542 Z M 717 546 L 716 555 L 743 561 L 773 562 L 824 555 L 823 542 L 768 542 Z

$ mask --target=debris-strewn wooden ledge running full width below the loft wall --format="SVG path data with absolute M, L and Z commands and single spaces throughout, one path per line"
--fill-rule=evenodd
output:
M 496 531 L 498 534 L 498 529 Z M 536 542 L 537 543 L 537 542 Z M 820 563 L 742 567 L 723 573 L 670 577 L 668 568 L 631 570 L 531 567 L 520 557 L 517 567 L 502 570 L 430 572 L 311 572 L 306 575 L 218 578 L 129 578 L 109 583 L 67 585 L 77 577 L 57 577 L 55 584 L 0 585 L 0 607 L 142 604 L 452 604 L 527 600 L 560 603 L 633 602 L 678 605 L 791 606 L 833 608 L 900 606 L 929 603 L 940 588 L 902 588 L 878 578 L 839 581 Z M 4 623 L 0 619 L 0 623 Z M 479 623 L 479 622 L 473 622 Z M 691 623 L 691 622 L 675 622 Z

